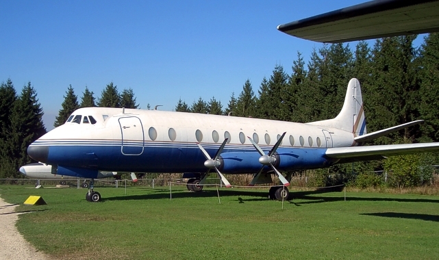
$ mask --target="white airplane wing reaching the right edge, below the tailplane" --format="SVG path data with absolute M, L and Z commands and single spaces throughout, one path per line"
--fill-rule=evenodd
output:
M 344 159 L 371 155 L 407 155 L 411 153 L 427 153 L 435 150 L 439 150 L 439 142 L 327 148 L 325 155 L 334 159 Z

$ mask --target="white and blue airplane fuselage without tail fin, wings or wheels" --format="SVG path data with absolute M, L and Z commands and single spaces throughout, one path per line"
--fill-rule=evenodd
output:
M 336 161 L 325 157 L 326 148 L 354 144 L 353 133 L 340 129 L 235 116 L 87 107 L 75 111 L 71 120 L 75 122 L 36 140 L 28 153 L 67 169 L 58 174 L 71 171 L 77 177 L 90 177 L 95 170 L 205 172 L 197 143 L 213 156 L 225 138 L 221 170 L 231 174 L 254 173 L 261 167 L 247 136 L 268 151 L 286 132 L 277 149 L 279 170 L 329 166 Z M 78 174 L 71 168 L 84 171 Z

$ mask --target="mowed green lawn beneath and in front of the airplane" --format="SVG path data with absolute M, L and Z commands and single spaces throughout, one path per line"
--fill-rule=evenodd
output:
M 410 194 L 292 192 L 284 203 L 266 190 L 0 186 L 20 203 L 18 230 L 56 259 L 437 259 L 439 198 Z M 48 205 L 25 206 L 29 195 Z

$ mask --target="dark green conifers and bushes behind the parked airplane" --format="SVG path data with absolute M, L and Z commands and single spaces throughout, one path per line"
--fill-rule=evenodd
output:
M 209 100 L 194 96 L 193 103 L 176 101 L 174 110 L 291 122 L 325 120 L 340 112 L 347 83 L 355 77 L 362 87 L 368 133 L 425 120 L 421 125 L 369 144 L 439 142 L 439 34 L 428 34 L 421 46 L 414 48 L 416 37 L 381 38 L 373 45 L 364 41 L 325 44 L 312 51 L 306 59 L 308 62 L 297 53 L 292 64 L 276 64 L 271 76 L 262 82 L 243 80 L 242 86 L 236 86 L 237 92 L 230 93 L 227 104 L 214 96 Z M 17 93 L 12 79 L 3 80 L 0 86 L 0 179 L 21 178 L 18 168 L 32 162 L 26 153 L 27 146 L 46 133 L 43 110 L 31 82 Z M 62 125 L 79 107 L 139 107 L 131 88 L 119 92 L 112 82 L 103 88 L 98 98 L 85 88 L 80 100 L 69 86 L 64 101 L 59 102 L 62 109 L 55 118 L 55 127 Z M 149 104 L 146 108 L 150 109 Z M 436 164 L 439 164 L 437 153 L 339 164 L 313 171 L 318 178 L 312 185 L 429 185 L 436 176 L 431 166 Z M 386 172 L 386 183 L 381 176 L 383 172 Z

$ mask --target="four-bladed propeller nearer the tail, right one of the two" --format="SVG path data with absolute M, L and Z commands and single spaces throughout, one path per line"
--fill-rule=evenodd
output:
M 255 141 L 253 141 L 249 136 L 247 136 L 247 138 L 249 138 L 251 144 L 253 144 L 253 146 L 255 146 L 256 150 L 261 155 L 261 157 L 259 157 L 259 162 L 260 162 L 260 164 L 263 165 L 262 168 L 258 171 L 258 173 L 256 173 L 255 177 L 251 180 L 251 183 L 249 185 L 253 186 L 256 184 L 260 175 L 262 174 L 262 170 L 264 170 L 264 166 L 271 166 L 273 171 L 276 172 L 277 177 L 279 177 L 279 181 L 281 181 L 282 185 L 284 185 L 284 186 L 290 185 L 290 183 L 285 179 L 284 175 L 282 175 L 279 172 L 279 170 L 277 170 L 275 168 L 275 166 L 273 165 L 276 162 L 276 157 L 273 155 L 275 155 L 277 148 L 279 148 L 279 145 L 281 145 L 282 139 L 284 139 L 285 134 L 286 134 L 286 132 L 284 132 L 281 135 L 279 140 L 277 140 L 275 146 L 273 146 L 273 148 L 271 148 L 271 151 L 268 153 L 268 155 L 266 155 L 265 152 L 262 151 L 262 149 L 258 146 L 258 144 L 255 143 Z

